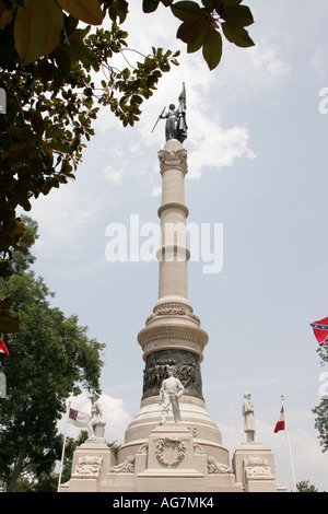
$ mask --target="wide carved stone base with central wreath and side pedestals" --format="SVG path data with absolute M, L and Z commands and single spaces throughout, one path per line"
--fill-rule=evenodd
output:
M 233 466 L 198 444 L 183 423 L 155 427 L 120 464 L 106 445 L 84 443 L 73 456 L 72 476 L 60 492 L 282 492 L 271 451 L 242 444 Z

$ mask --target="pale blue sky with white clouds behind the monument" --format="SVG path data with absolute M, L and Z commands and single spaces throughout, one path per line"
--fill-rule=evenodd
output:
M 328 4 L 245 4 L 256 46 L 225 44 L 210 72 L 200 52 L 187 55 L 176 39 L 179 22 L 165 8 L 145 15 L 141 1 L 131 2 L 129 46 L 144 54 L 152 46 L 180 49 L 180 65 L 161 79 L 133 128 L 102 108 L 77 179 L 33 202 L 34 269 L 56 293 L 52 304 L 106 343 L 106 439 L 122 443 L 140 407 L 137 336 L 157 301 L 159 264 L 131 261 L 129 253 L 113 262 L 106 248 L 113 223 L 129 235 L 138 219 L 140 245 L 143 229 L 159 224 L 164 121 L 151 130 L 185 82 L 188 222 L 210 230 L 212 250 L 214 227 L 223 230 L 222 266 L 206 272 L 209 255 L 201 253 L 188 265 L 189 302 L 209 334 L 201 364 L 207 410 L 232 458 L 246 441 L 242 404 L 249 392 L 256 439 L 272 449 L 279 483 L 293 489 L 289 434 L 296 482 L 328 491 L 328 455 L 312 412 L 328 394 L 328 370 L 309 326 L 328 316 Z M 281 395 L 289 431 L 274 434 Z M 87 392 L 72 407 L 90 409 Z

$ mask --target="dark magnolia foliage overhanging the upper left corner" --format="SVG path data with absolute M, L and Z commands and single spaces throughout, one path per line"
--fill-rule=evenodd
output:
M 143 12 L 160 4 L 183 22 L 177 37 L 188 52 L 202 49 L 210 70 L 221 60 L 222 34 L 237 46 L 254 45 L 245 28 L 253 15 L 242 0 L 142 0 Z M 74 178 L 99 105 L 133 126 L 163 72 L 178 63 L 178 52 L 152 48 L 134 68 L 114 68 L 114 55 L 128 51 L 128 34 L 119 27 L 128 13 L 127 0 L 0 0 L 0 87 L 7 94 L 7 114 L 0 115 L 2 279 L 26 242 L 16 208 L 30 211 L 32 198 Z M 108 31 L 98 27 L 106 15 Z M 79 27 L 81 21 L 87 26 Z M 101 87 L 94 72 L 104 73 Z M 0 332 L 15 334 L 20 326 L 4 299 Z

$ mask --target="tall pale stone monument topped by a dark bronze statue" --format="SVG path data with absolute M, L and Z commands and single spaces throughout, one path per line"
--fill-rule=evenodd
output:
M 245 454 L 243 446 L 233 460 L 235 467 L 231 467 L 229 451 L 222 444 L 221 432 L 208 413 L 202 395 L 201 362 L 209 337 L 188 300 L 185 86 L 178 107 L 171 105 L 161 118 L 166 119 L 166 143 L 159 152 L 162 176 L 157 211 L 161 220 L 159 299 L 138 335 L 144 361 L 140 410 L 126 431 L 117 463 L 110 464 L 97 487 L 99 491 L 113 492 L 245 491 L 244 456 L 248 460 L 261 458 L 261 453 L 255 445 L 247 447 Z M 251 467 L 254 462 L 249 463 Z M 263 475 L 259 479 L 260 490 L 266 487 L 270 491 L 279 490 L 272 459 L 266 472 L 266 480 Z M 73 480 L 61 490 L 70 491 L 72 487 L 77 490 Z M 82 483 L 80 480 L 79 487 Z

